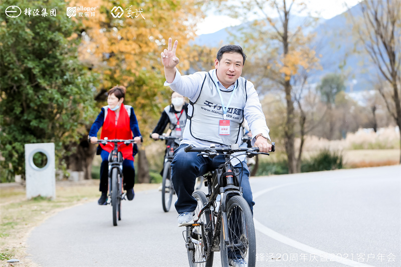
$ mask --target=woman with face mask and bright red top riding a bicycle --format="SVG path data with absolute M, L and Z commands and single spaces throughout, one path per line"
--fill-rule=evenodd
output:
M 101 109 L 95 122 L 92 124 L 88 138 L 91 143 L 96 143 L 97 132 L 102 127 L 100 139 L 133 139 L 139 144 L 141 142 L 141 133 L 139 132 L 138 121 L 131 106 L 123 104 L 125 97 L 125 87 L 115 86 L 107 93 L 107 106 Z M 100 166 L 100 188 L 102 192 L 98 203 L 105 205 L 107 200 L 108 189 L 108 158 L 110 152 L 113 150 L 114 144 L 107 143 L 106 145 L 100 144 L 98 147 L 97 155 L 102 157 L 102 164 Z M 124 189 L 127 190 L 128 200 L 134 199 L 134 155 L 137 152 L 136 145 L 122 144 L 119 149 L 123 156 L 123 175 L 124 175 Z

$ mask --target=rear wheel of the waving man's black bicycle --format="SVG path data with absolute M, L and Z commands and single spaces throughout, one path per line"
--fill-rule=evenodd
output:
M 195 214 L 198 214 L 200 209 L 208 203 L 206 195 L 202 191 L 193 192 L 192 196 L 197 200 Z M 205 210 L 197 220 L 204 223 L 205 238 L 202 236 L 202 226 L 187 226 L 186 227 L 186 242 L 188 243 L 188 261 L 190 267 L 212 267 L 213 251 L 212 251 L 212 232 L 207 232 L 205 228 L 211 226 L 211 211 Z

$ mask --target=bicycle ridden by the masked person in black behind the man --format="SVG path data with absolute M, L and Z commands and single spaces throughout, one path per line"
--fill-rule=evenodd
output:
M 182 138 L 173 136 L 160 135 L 159 140 L 171 140 L 171 144 L 175 143 L 175 140 L 181 141 Z M 178 147 L 178 144 L 177 144 Z M 163 210 L 168 212 L 171 207 L 172 196 L 175 194 L 174 187 L 171 182 L 171 162 L 174 156 L 174 145 L 166 145 L 166 154 L 164 155 L 163 163 L 163 179 L 161 182 L 161 204 Z

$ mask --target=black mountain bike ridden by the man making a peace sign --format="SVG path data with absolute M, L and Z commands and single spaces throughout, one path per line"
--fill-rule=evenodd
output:
M 272 151 L 275 143 L 272 142 Z M 195 191 L 197 200 L 195 214 L 198 220 L 184 231 L 185 246 L 191 267 L 212 266 L 215 251 L 220 251 L 222 265 L 232 265 L 232 259 L 245 260 L 248 266 L 256 264 L 256 238 L 253 215 L 242 196 L 241 179 L 243 170 L 235 169 L 233 158 L 246 154 L 253 157 L 259 148 L 240 148 L 238 144 L 228 147 L 185 147 L 185 152 L 200 152 L 198 156 L 214 158 L 224 154 L 226 163 L 204 175 L 208 194 Z M 232 155 L 235 152 L 244 152 Z M 217 204 L 220 200 L 220 203 Z

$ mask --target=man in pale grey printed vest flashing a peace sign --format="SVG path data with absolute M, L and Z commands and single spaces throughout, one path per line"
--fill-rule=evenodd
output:
M 168 48 L 161 53 L 161 61 L 166 78 L 164 85 L 170 86 L 190 101 L 183 140 L 175 150 L 171 163 L 172 182 L 178 197 L 175 202 L 179 213 L 178 226 L 187 226 L 197 219 L 193 214 L 197 201 L 192 197 L 196 177 L 216 169 L 225 163 L 225 158 L 223 155 L 213 159 L 200 157 L 196 152 L 184 152 L 184 147 L 189 144 L 195 147 L 241 144 L 241 124 L 244 118 L 253 134 L 252 145 L 259 147 L 260 152 L 271 151 L 272 145 L 267 142 L 270 140 L 269 128 L 254 85 L 241 77 L 246 59 L 242 48 L 224 46 L 217 53 L 214 70 L 181 76 L 176 69 L 179 63 L 175 56 L 177 44 L 175 41 L 172 47 L 169 38 Z M 253 210 L 255 202 L 248 168 L 246 163 L 242 164 L 244 160 L 245 155 L 232 162 L 235 168 L 244 167 L 241 183 L 243 197 Z M 238 262 L 232 263 L 239 265 Z

